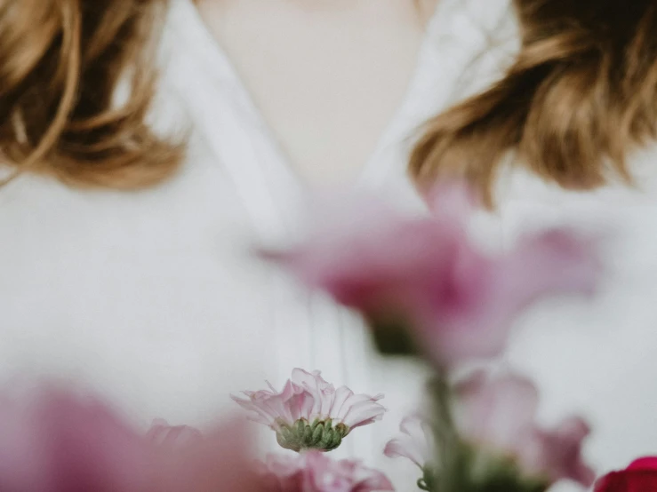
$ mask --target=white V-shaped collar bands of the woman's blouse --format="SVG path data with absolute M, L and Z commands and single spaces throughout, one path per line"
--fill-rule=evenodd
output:
M 488 16 L 479 14 L 478 0 L 437 2 L 403 101 L 357 179 L 342 188 L 397 193 L 398 189 L 389 189 L 393 180 L 403 189 L 413 188 L 405 172 L 413 135 L 421 123 L 453 102 L 469 65 L 489 47 L 490 30 L 509 4 L 509 0 L 490 1 L 492 6 L 485 9 Z M 194 133 L 236 186 L 256 234 L 284 241 L 298 231 L 313 187 L 293 170 L 193 1 L 171 2 L 164 63 L 176 97 L 184 101 Z M 411 193 L 413 200 L 421 202 L 413 189 Z M 397 200 L 397 195 L 391 198 Z

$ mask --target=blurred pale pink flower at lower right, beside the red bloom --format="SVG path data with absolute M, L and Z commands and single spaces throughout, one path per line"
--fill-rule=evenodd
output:
M 589 426 L 571 417 L 556 429 L 541 429 L 538 400 L 536 387 L 524 377 L 478 371 L 455 387 L 454 420 L 462 439 L 477 450 L 511 458 L 529 477 L 589 487 L 595 473 L 581 456 Z

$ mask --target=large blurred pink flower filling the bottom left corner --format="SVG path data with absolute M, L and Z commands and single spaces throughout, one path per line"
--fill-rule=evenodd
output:
M 60 389 L 0 401 L 4 492 L 253 492 L 243 426 L 184 450 L 155 445 L 106 405 Z M 226 488 L 224 488 L 226 487 Z

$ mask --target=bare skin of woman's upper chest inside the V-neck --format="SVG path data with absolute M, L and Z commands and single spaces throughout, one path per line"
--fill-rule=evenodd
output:
M 294 171 L 323 184 L 353 178 L 396 115 L 425 10 L 388 0 L 200 3 Z

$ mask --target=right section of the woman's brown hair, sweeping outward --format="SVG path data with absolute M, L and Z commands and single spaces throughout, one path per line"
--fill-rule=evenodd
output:
M 560 186 L 594 188 L 614 174 L 630 182 L 629 151 L 657 137 L 657 2 L 514 3 L 517 59 L 492 87 L 427 123 L 411 172 L 421 185 L 468 179 L 488 205 L 509 151 Z

